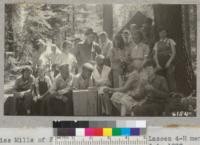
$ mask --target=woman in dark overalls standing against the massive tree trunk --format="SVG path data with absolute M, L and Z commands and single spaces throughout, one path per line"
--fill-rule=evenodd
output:
M 157 69 L 164 73 L 167 79 L 170 91 L 176 90 L 176 82 L 174 76 L 174 59 L 176 56 L 176 43 L 173 39 L 167 37 L 167 30 L 159 29 L 160 40 L 154 46 L 154 59 Z

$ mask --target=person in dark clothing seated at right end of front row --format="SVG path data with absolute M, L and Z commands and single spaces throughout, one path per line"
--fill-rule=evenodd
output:
M 145 63 L 144 71 L 148 73 L 148 81 L 144 85 L 144 96 L 147 97 L 144 103 L 132 108 L 135 116 L 160 116 L 165 111 L 169 99 L 167 81 L 164 77 L 155 73 L 154 63 Z

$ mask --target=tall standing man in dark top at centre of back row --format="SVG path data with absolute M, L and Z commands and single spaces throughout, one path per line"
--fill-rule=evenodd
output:
M 80 42 L 76 49 L 76 58 L 79 66 L 82 66 L 82 64 L 86 62 L 95 60 L 95 56 L 101 53 L 101 48 L 94 39 L 95 36 L 93 29 L 87 29 L 85 32 L 85 41 Z

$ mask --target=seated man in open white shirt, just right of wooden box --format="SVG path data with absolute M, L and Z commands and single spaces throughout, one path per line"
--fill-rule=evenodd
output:
M 105 57 L 103 55 L 96 56 L 96 66 L 92 73 L 95 86 L 98 88 L 98 114 L 110 115 L 111 114 L 111 102 L 109 94 L 103 90 L 111 86 L 111 68 L 104 65 Z

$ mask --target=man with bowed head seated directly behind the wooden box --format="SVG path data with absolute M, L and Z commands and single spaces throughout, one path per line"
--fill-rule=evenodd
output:
M 84 90 L 93 86 L 93 79 L 91 77 L 93 66 L 90 63 L 85 63 L 82 67 L 82 72 L 74 77 L 73 87 L 75 89 Z

